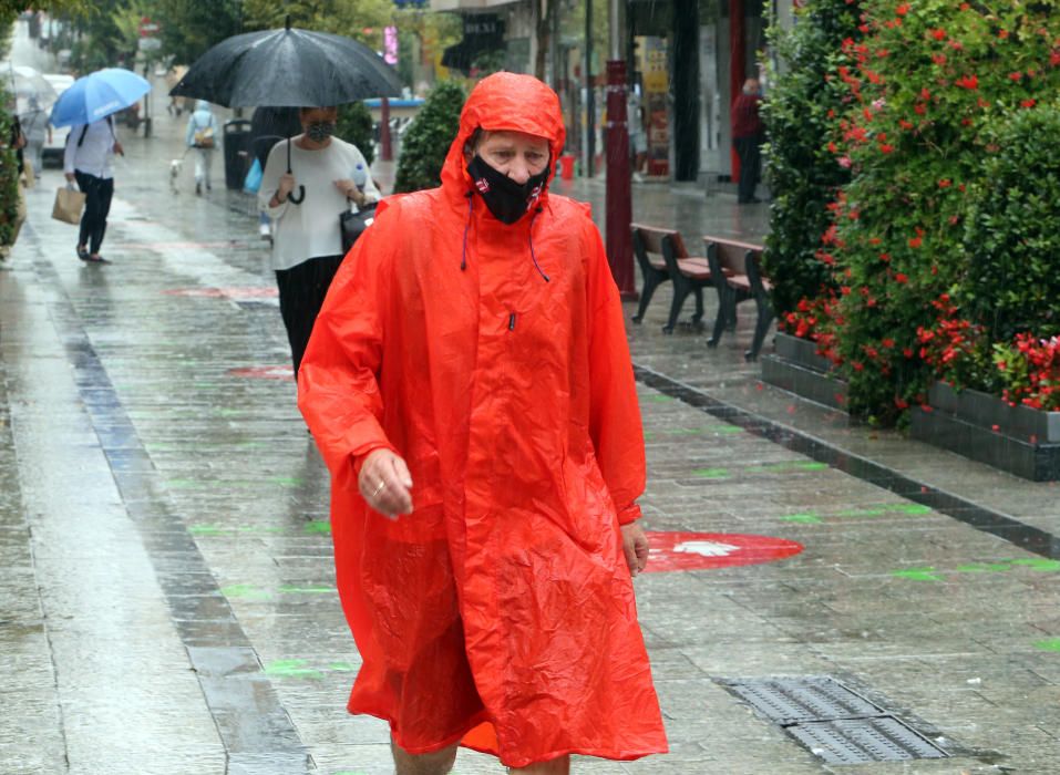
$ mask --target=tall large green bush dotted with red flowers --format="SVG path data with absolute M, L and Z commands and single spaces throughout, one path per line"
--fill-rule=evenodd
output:
M 1060 2 L 863 0 L 862 8 L 863 37 L 843 41 L 845 62 L 833 60 L 836 66 L 827 75 L 845 100 L 845 108 L 835 113 L 829 149 L 836 167 L 850 170 L 851 182 L 832 204 L 831 224 L 816 256 L 841 288 L 843 326 L 835 330 L 836 350 L 850 381 L 851 412 L 889 423 L 898 420 L 904 404 L 926 392 L 937 368 L 944 372 L 956 368 L 976 351 L 956 347 L 954 335 L 978 330 L 998 296 L 1016 289 L 1005 307 L 1008 311 L 1018 308 L 1019 294 L 1027 292 L 1022 279 L 1011 278 L 1023 271 L 1023 264 L 1009 262 L 981 273 L 985 281 L 965 298 L 972 268 L 1001 260 L 1001 246 L 1019 242 L 1022 235 L 1049 234 L 1060 240 L 1060 213 L 1051 194 L 1056 179 L 1047 188 L 1044 204 L 1026 210 L 1037 219 L 1033 227 L 1018 228 L 1018 205 L 1036 185 L 1029 182 L 1019 189 L 1022 199 L 1000 211 L 1000 218 L 991 207 L 1000 207 L 1006 195 L 988 194 L 982 200 L 988 204 L 980 203 L 976 210 L 976 226 L 966 231 L 974 193 L 996 190 L 984 159 L 1001 149 L 998 143 L 1009 137 L 1006 127 L 1012 116 L 1040 111 L 1043 101 L 1060 93 Z M 1054 175 L 1057 135 L 1036 142 L 1047 146 L 1044 154 L 1052 154 L 1052 166 L 1044 167 L 1043 175 Z M 1018 166 L 1019 158 L 1013 152 L 1011 164 Z M 982 235 L 998 226 L 1008 235 L 996 251 L 987 246 L 974 262 L 966 234 Z M 1030 268 L 1030 277 L 1051 271 L 1046 287 L 1053 289 L 1060 282 L 1058 255 L 1041 251 L 1032 238 L 1015 259 L 1004 260 L 1038 261 L 1040 269 Z M 950 293 L 963 308 L 967 304 L 980 319 L 968 320 L 966 329 L 939 328 L 933 301 L 943 293 Z M 1056 307 L 1056 292 L 1040 304 L 1032 298 L 1039 319 L 1006 321 L 1027 323 L 1025 330 L 1039 334 L 1052 333 L 1040 331 L 1039 324 L 1040 316 L 1048 317 L 1051 310 L 1050 301 Z M 934 337 L 920 341 L 929 331 Z M 935 337 L 950 338 L 951 356 L 945 358 L 945 348 L 936 353 L 934 344 L 920 356 Z M 906 355 L 908 351 L 914 356 Z M 990 381 L 988 375 L 977 379 Z

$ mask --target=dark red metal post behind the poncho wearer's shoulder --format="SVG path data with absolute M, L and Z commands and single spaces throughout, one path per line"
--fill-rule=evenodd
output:
M 626 62 L 607 63 L 607 262 L 622 301 L 639 298 L 634 278 L 629 225 L 634 219 L 629 188 L 629 127 L 626 126 Z

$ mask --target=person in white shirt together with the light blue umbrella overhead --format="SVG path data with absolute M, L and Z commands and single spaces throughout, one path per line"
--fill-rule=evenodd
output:
M 110 68 L 78 79 L 52 108 L 53 126 L 70 126 L 63 173 L 84 193 L 84 215 L 78 237 L 78 258 L 102 264 L 100 247 L 114 196 L 114 154 L 123 154 L 113 114 L 151 91 L 151 84 L 130 70 Z

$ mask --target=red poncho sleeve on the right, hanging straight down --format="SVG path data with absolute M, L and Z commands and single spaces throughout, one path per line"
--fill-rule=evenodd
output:
M 640 517 L 644 431 L 618 287 L 600 235 L 589 228 L 586 264 L 589 324 L 589 435 L 620 525 Z

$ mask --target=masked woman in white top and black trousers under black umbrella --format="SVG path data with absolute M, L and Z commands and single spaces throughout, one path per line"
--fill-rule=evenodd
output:
M 339 215 L 350 202 L 363 206 L 380 198 L 370 175 L 363 186 L 353 183 L 354 170 L 368 169 L 368 163 L 357 146 L 332 137 L 335 107 L 302 107 L 298 117 L 303 133 L 272 146 L 258 189 L 261 209 L 272 218 L 272 269 L 296 378 L 342 264 Z

